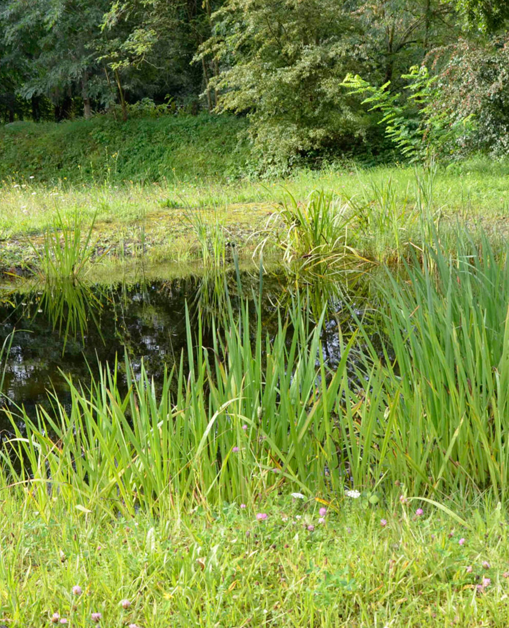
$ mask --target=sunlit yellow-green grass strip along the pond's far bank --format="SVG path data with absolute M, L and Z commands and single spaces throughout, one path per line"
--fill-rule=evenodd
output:
M 397 261 L 422 248 L 423 212 L 444 239 L 459 227 L 484 230 L 493 242 L 505 236 L 509 220 L 507 166 L 471 161 L 436 169 L 433 176 L 409 166 L 370 170 L 329 168 L 297 171 L 286 180 L 226 181 L 224 178 L 172 181 L 140 185 L 68 185 L 54 187 L 34 180 L 4 183 L 0 187 L 0 266 L 34 263 L 33 248 L 56 212 L 73 222 L 78 216 L 87 227 L 95 217 L 93 243 L 97 254 L 112 259 L 142 256 L 150 263 L 200 259 L 202 242 L 197 223 L 208 225 L 209 239 L 223 232 L 248 259 L 263 239 L 280 249 L 288 228 L 278 220 L 280 203 L 306 203 L 310 190 L 330 195 L 332 211 L 344 220 L 345 244 L 374 261 Z M 266 226 L 269 225 L 269 229 Z

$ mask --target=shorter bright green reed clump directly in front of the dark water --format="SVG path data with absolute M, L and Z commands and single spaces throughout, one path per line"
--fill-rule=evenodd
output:
M 223 339 L 214 330 L 214 346 L 205 350 L 187 317 L 191 370 L 181 360 L 159 394 L 144 369 L 135 379 L 127 358 L 125 396 L 116 365 L 88 390 L 68 378 L 70 407 L 53 396 L 51 413 L 38 408 L 34 420 L 21 409 L 26 434 L 9 414 L 16 438 L 4 463 L 33 486 L 42 511 L 55 494 L 80 509 L 132 514 L 138 506 L 253 499 L 285 481 L 305 492 L 342 492 L 327 468 L 338 466 L 332 410 L 347 352 L 330 382 L 322 361 L 318 380 L 320 325 L 308 337 L 295 306 L 270 340 L 257 320 L 251 342 L 248 306 L 238 323 L 230 307 Z

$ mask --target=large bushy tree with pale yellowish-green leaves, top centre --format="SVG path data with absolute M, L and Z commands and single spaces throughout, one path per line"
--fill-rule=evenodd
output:
M 342 1 L 227 0 L 212 19 L 213 36 L 196 61 L 213 58 L 220 67 L 209 81 L 216 111 L 248 115 L 263 168 L 346 146 L 362 132 L 339 84 L 369 60 L 359 21 Z

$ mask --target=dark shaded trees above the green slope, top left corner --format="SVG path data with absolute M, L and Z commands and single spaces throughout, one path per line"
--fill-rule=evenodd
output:
M 0 104 L 5 99 L 7 111 L 0 116 L 23 116 L 28 107 L 14 102 L 16 95 L 31 102 L 34 120 L 51 113 L 60 120 L 81 108 L 88 118 L 117 100 L 125 119 L 129 100 L 160 103 L 169 92 L 196 106 L 208 74 L 189 62 L 209 35 L 209 13 L 199 3 L 157 0 L 1 0 Z

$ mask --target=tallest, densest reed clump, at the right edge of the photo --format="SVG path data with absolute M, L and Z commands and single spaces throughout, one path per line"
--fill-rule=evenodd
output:
M 508 248 L 495 257 L 465 236 L 458 256 L 437 244 L 408 281 L 391 273 L 380 333 L 384 358 L 370 352 L 371 391 L 359 415 L 363 455 L 414 494 L 490 491 L 505 501 L 509 443 Z M 372 412 L 385 406 L 383 421 Z M 368 426 L 378 434 L 376 443 Z M 377 467 L 377 468 L 378 468 Z M 356 475 L 362 482 L 362 473 Z

